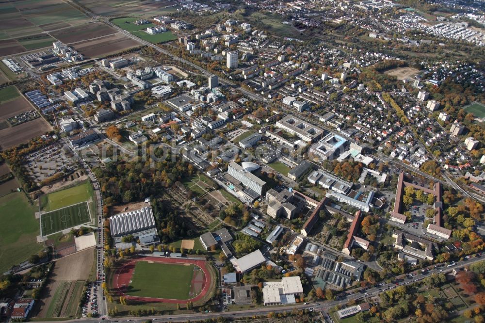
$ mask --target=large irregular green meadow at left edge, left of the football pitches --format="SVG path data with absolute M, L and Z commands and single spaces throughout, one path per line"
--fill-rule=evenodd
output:
M 39 222 L 27 197 L 15 192 L 0 197 L 0 274 L 42 250 L 36 242 Z

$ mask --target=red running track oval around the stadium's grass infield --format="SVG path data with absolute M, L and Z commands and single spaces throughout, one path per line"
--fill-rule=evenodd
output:
M 126 286 L 129 285 L 129 281 L 133 276 L 133 270 L 135 269 L 135 265 L 138 261 L 153 261 L 153 262 L 161 262 L 161 263 L 190 263 L 193 264 L 204 272 L 205 275 L 205 284 L 202 286 L 202 290 L 200 293 L 191 299 L 170 299 L 170 298 L 155 298 L 155 297 L 139 297 L 139 296 L 130 296 L 125 294 Z M 128 300 L 132 300 L 135 302 L 145 302 L 145 303 L 183 303 L 183 302 L 197 302 L 204 298 L 204 296 L 209 291 L 211 285 L 210 281 L 210 273 L 209 269 L 207 269 L 207 262 L 205 260 L 194 260 L 194 259 L 184 259 L 184 258 L 161 258 L 161 257 L 143 257 L 132 259 L 128 263 L 126 263 L 123 267 L 119 268 L 116 273 L 113 275 L 113 288 L 118 291 L 118 295 L 125 296 Z

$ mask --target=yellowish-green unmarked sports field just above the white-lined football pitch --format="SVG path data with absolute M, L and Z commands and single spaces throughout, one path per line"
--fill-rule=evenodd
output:
M 42 195 L 40 197 L 41 210 L 52 211 L 81 203 L 93 198 L 93 193 L 91 182 L 86 180 L 79 185 Z

